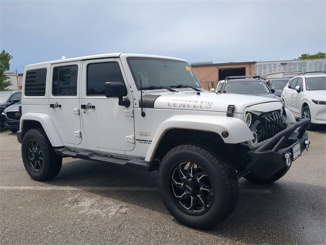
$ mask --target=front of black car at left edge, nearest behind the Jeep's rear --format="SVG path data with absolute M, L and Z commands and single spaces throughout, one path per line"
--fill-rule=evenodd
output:
M 11 132 L 17 132 L 19 130 L 20 103 L 8 106 L 1 114 L 3 119 L 4 128 L 9 129 Z

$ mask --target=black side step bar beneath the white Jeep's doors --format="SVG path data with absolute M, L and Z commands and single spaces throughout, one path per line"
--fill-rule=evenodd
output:
M 121 159 L 98 155 L 94 152 L 76 152 L 67 148 L 56 148 L 55 152 L 63 157 L 72 157 L 85 160 L 93 160 L 98 162 L 106 162 L 114 165 L 123 165 L 133 167 L 144 171 L 153 171 L 158 169 L 158 163 L 155 161 L 147 162 L 141 159 Z

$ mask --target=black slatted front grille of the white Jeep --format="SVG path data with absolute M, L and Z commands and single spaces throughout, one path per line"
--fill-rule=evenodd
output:
M 259 116 L 252 115 L 253 122 L 250 129 L 257 134 L 258 143 L 273 137 L 287 127 L 286 119 L 284 116 L 281 117 L 278 110 L 265 112 Z

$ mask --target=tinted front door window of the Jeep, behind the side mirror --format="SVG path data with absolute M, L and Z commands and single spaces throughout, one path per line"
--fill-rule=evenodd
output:
M 87 66 L 87 95 L 105 94 L 106 82 L 123 82 L 118 62 L 93 63 Z

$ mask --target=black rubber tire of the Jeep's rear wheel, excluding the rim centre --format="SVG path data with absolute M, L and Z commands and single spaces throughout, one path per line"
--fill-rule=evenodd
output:
M 28 156 L 29 143 L 33 140 L 38 143 L 42 153 L 42 165 L 38 171 L 31 166 Z M 25 133 L 21 143 L 21 155 L 27 173 L 34 180 L 49 180 L 60 172 L 62 156 L 55 153 L 43 129 L 31 129 Z

